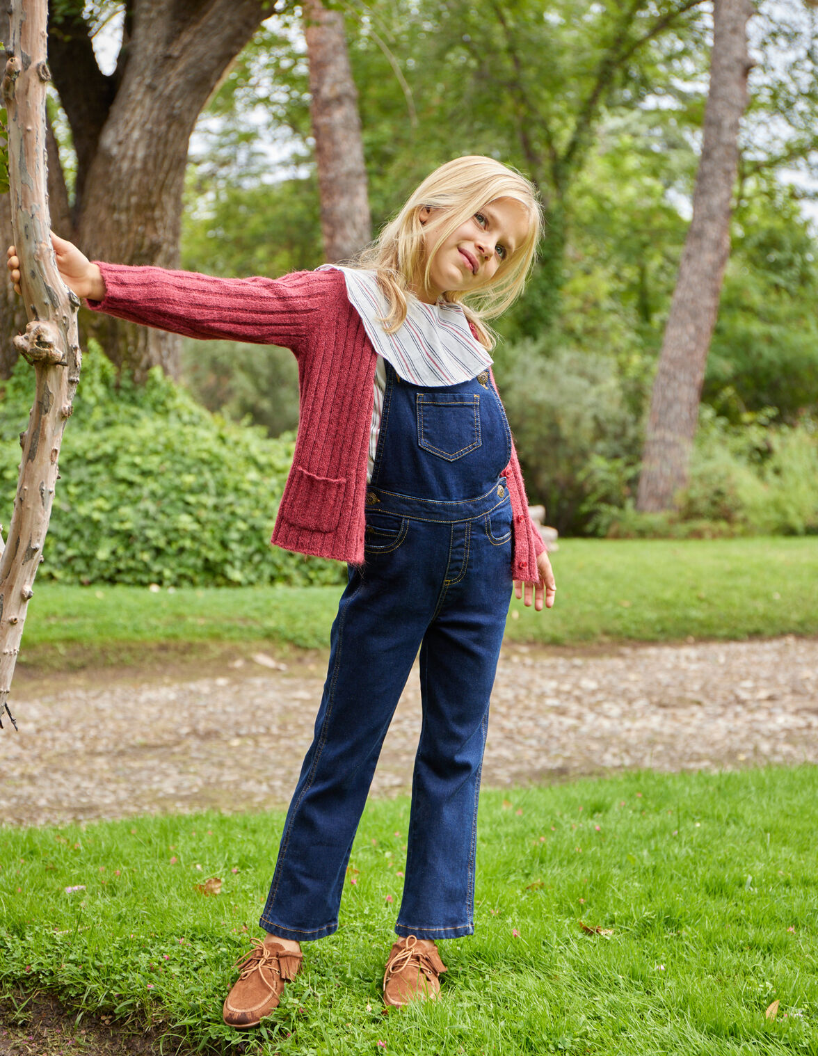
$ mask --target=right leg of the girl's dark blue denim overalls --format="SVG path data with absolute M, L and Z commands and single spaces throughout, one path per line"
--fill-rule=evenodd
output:
M 511 545 L 473 532 L 470 567 L 449 587 L 420 650 L 423 727 L 415 760 L 400 936 L 474 931 L 477 804 L 489 698 L 511 600 Z

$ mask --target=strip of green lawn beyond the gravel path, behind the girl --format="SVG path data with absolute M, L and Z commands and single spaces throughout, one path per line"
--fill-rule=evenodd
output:
M 508 636 L 544 643 L 818 634 L 818 539 L 567 540 L 557 602 L 512 604 Z M 21 662 L 144 662 L 215 643 L 323 647 L 340 587 L 178 589 L 38 584 Z

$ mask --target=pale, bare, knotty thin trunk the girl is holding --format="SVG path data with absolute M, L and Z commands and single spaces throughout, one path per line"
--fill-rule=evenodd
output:
M 57 458 L 79 381 L 78 299 L 63 285 L 51 245 L 46 190 L 46 0 L 12 0 L 3 78 L 8 115 L 12 232 L 20 259 L 21 301 L 31 322 L 15 339 L 35 369 L 35 398 L 20 437 L 22 458 L 7 545 L 0 538 L 0 715 L 8 710 L 23 623 L 42 561 Z M 2 723 L 0 722 L 0 725 Z

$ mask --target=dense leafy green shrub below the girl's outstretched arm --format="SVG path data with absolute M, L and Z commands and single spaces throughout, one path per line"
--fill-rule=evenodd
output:
M 11 509 L 32 399 L 20 360 L 0 404 L 0 492 Z M 335 583 L 338 562 L 271 548 L 292 434 L 228 422 L 156 369 L 141 388 L 85 355 L 60 453 L 40 576 L 63 583 Z

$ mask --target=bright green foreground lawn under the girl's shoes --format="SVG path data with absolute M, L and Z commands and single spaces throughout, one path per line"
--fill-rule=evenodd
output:
M 341 928 L 306 947 L 263 1030 L 229 1030 L 221 1006 L 278 813 L 0 829 L 0 991 L 45 987 L 208 1053 L 818 1053 L 818 769 L 506 796 L 481 797 L 477 930 L 441 944 L 438 1002 L 382 1015 L 406 799 L 367 806 Z

